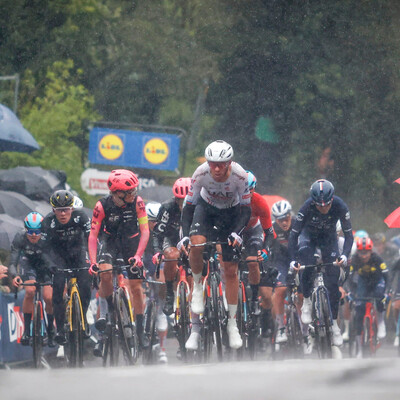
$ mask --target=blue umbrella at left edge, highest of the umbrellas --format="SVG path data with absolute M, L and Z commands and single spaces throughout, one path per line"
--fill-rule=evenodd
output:
M 0 104 L 0 151 L 30 153 L 40 147 L 17 116 Z

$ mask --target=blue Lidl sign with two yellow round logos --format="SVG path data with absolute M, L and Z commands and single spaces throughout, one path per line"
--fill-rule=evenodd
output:
M 93 128 L 89 139 L 89 161 L 93 164 L 175 170 L 180 138 L 167 133 Z

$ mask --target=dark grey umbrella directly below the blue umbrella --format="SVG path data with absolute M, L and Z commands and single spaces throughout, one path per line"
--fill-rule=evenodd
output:
M 0 189 L 22 193 L 33 200 L 49 201 L 55 190 L 65 189 L 63 171 L 41 167 L 17 167 L 0 170 Z

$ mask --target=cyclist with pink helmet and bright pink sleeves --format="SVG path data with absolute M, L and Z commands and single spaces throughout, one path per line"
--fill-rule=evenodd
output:
M 149 225 L 145 204 L 137 195 L 139 179 L 126 169 L 112 171 L 107 180 L 110 195 L 100 199 L 93 210 L 92 227 L 89 236 L 89 257 L 91 274 L 98 270 L 112 268 L 118 258 L 131 264 L 127 276 L 132 294 L 132 306 L 135 313 L 136 329 L 140 346 L 147 347 L 143 335 L 143 288 L 142 256 L 149 240 Z M 101 232 L 101 237 L 99 234 Z M 100 239 L 101 250 L 97 255 L 97 242 Z M 113 292 L 112 274 L 101 274 L 99 284 L 100 314 L 96 329 L 104 332 L 108 302 Z

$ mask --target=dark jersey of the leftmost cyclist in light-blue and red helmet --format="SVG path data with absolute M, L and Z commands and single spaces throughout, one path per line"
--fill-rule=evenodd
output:
M 10 266 L 8 267 L 10 275 L 17 275 L 17 266 L 22 257 L 35 268 L 45 268 L 43 256 L 44 243 L 39 240 L 37 243 L 31 243 L 26 237 L 25 232 L 18 232 L 11 244 Z

